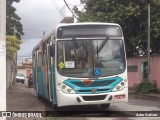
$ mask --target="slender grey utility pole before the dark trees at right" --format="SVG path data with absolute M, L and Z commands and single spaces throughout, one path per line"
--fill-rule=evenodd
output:
M 148 80 L 150 80 L 150 4 L 148 4 L 148 65 L 147 65 L 147 72 L 148 72 Z

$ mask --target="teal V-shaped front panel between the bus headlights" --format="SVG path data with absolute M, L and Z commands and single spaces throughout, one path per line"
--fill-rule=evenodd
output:
M 122 80 L 123 79 L 121 77 L 103 78 L 92 81 L 90 85 L 85 85 L 83 80 L 67 79 L 63 83 L 71 87 L 73 90 L 75 90 L 77 94 L 93 94 L 92 93 L 93 89 L 96 89 L 97 90 L 96 93 L 98 94 L 98 93 L 111 92 L 113 88 Z M 106 85 L 104 84 L 104 82 L 106 82 Z M 103 84 L 99 85 L 100 83 Z

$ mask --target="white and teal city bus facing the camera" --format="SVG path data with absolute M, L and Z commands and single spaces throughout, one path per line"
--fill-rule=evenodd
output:
M 128 101 L 125 42 L 116 23 L 59 24 L 32 51 L 38 97 L 54 108 Z

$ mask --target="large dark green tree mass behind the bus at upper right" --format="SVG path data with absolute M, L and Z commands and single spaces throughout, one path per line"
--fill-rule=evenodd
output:
M 127 56 L 147 54 L 148 4 L 151 4 L 151 50 L 160 53 L 159 0 L 81 0 L 83 11 L 74 11 L 80 22 L 113 22 L 121 25 Z

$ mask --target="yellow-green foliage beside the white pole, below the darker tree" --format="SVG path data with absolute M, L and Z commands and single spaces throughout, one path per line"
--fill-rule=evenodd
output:
M 6 37 L 6 56 L 7 59 L 14 60 L 14 55 L 17 50 L 20 49 L 20 44 L 22 43 L 16 36 L 7 36 Z

